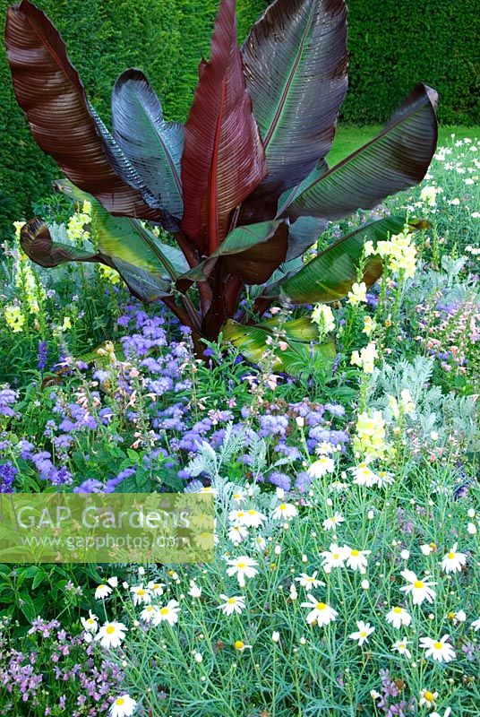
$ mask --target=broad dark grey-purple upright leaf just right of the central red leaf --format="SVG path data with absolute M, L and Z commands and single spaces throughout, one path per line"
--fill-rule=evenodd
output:
M 347 91 L 345 0 L 276 0 L 253 25 L 242 55 L 269 171 L 243 217 L 260 220 L 267 202 L 330 151 Z

